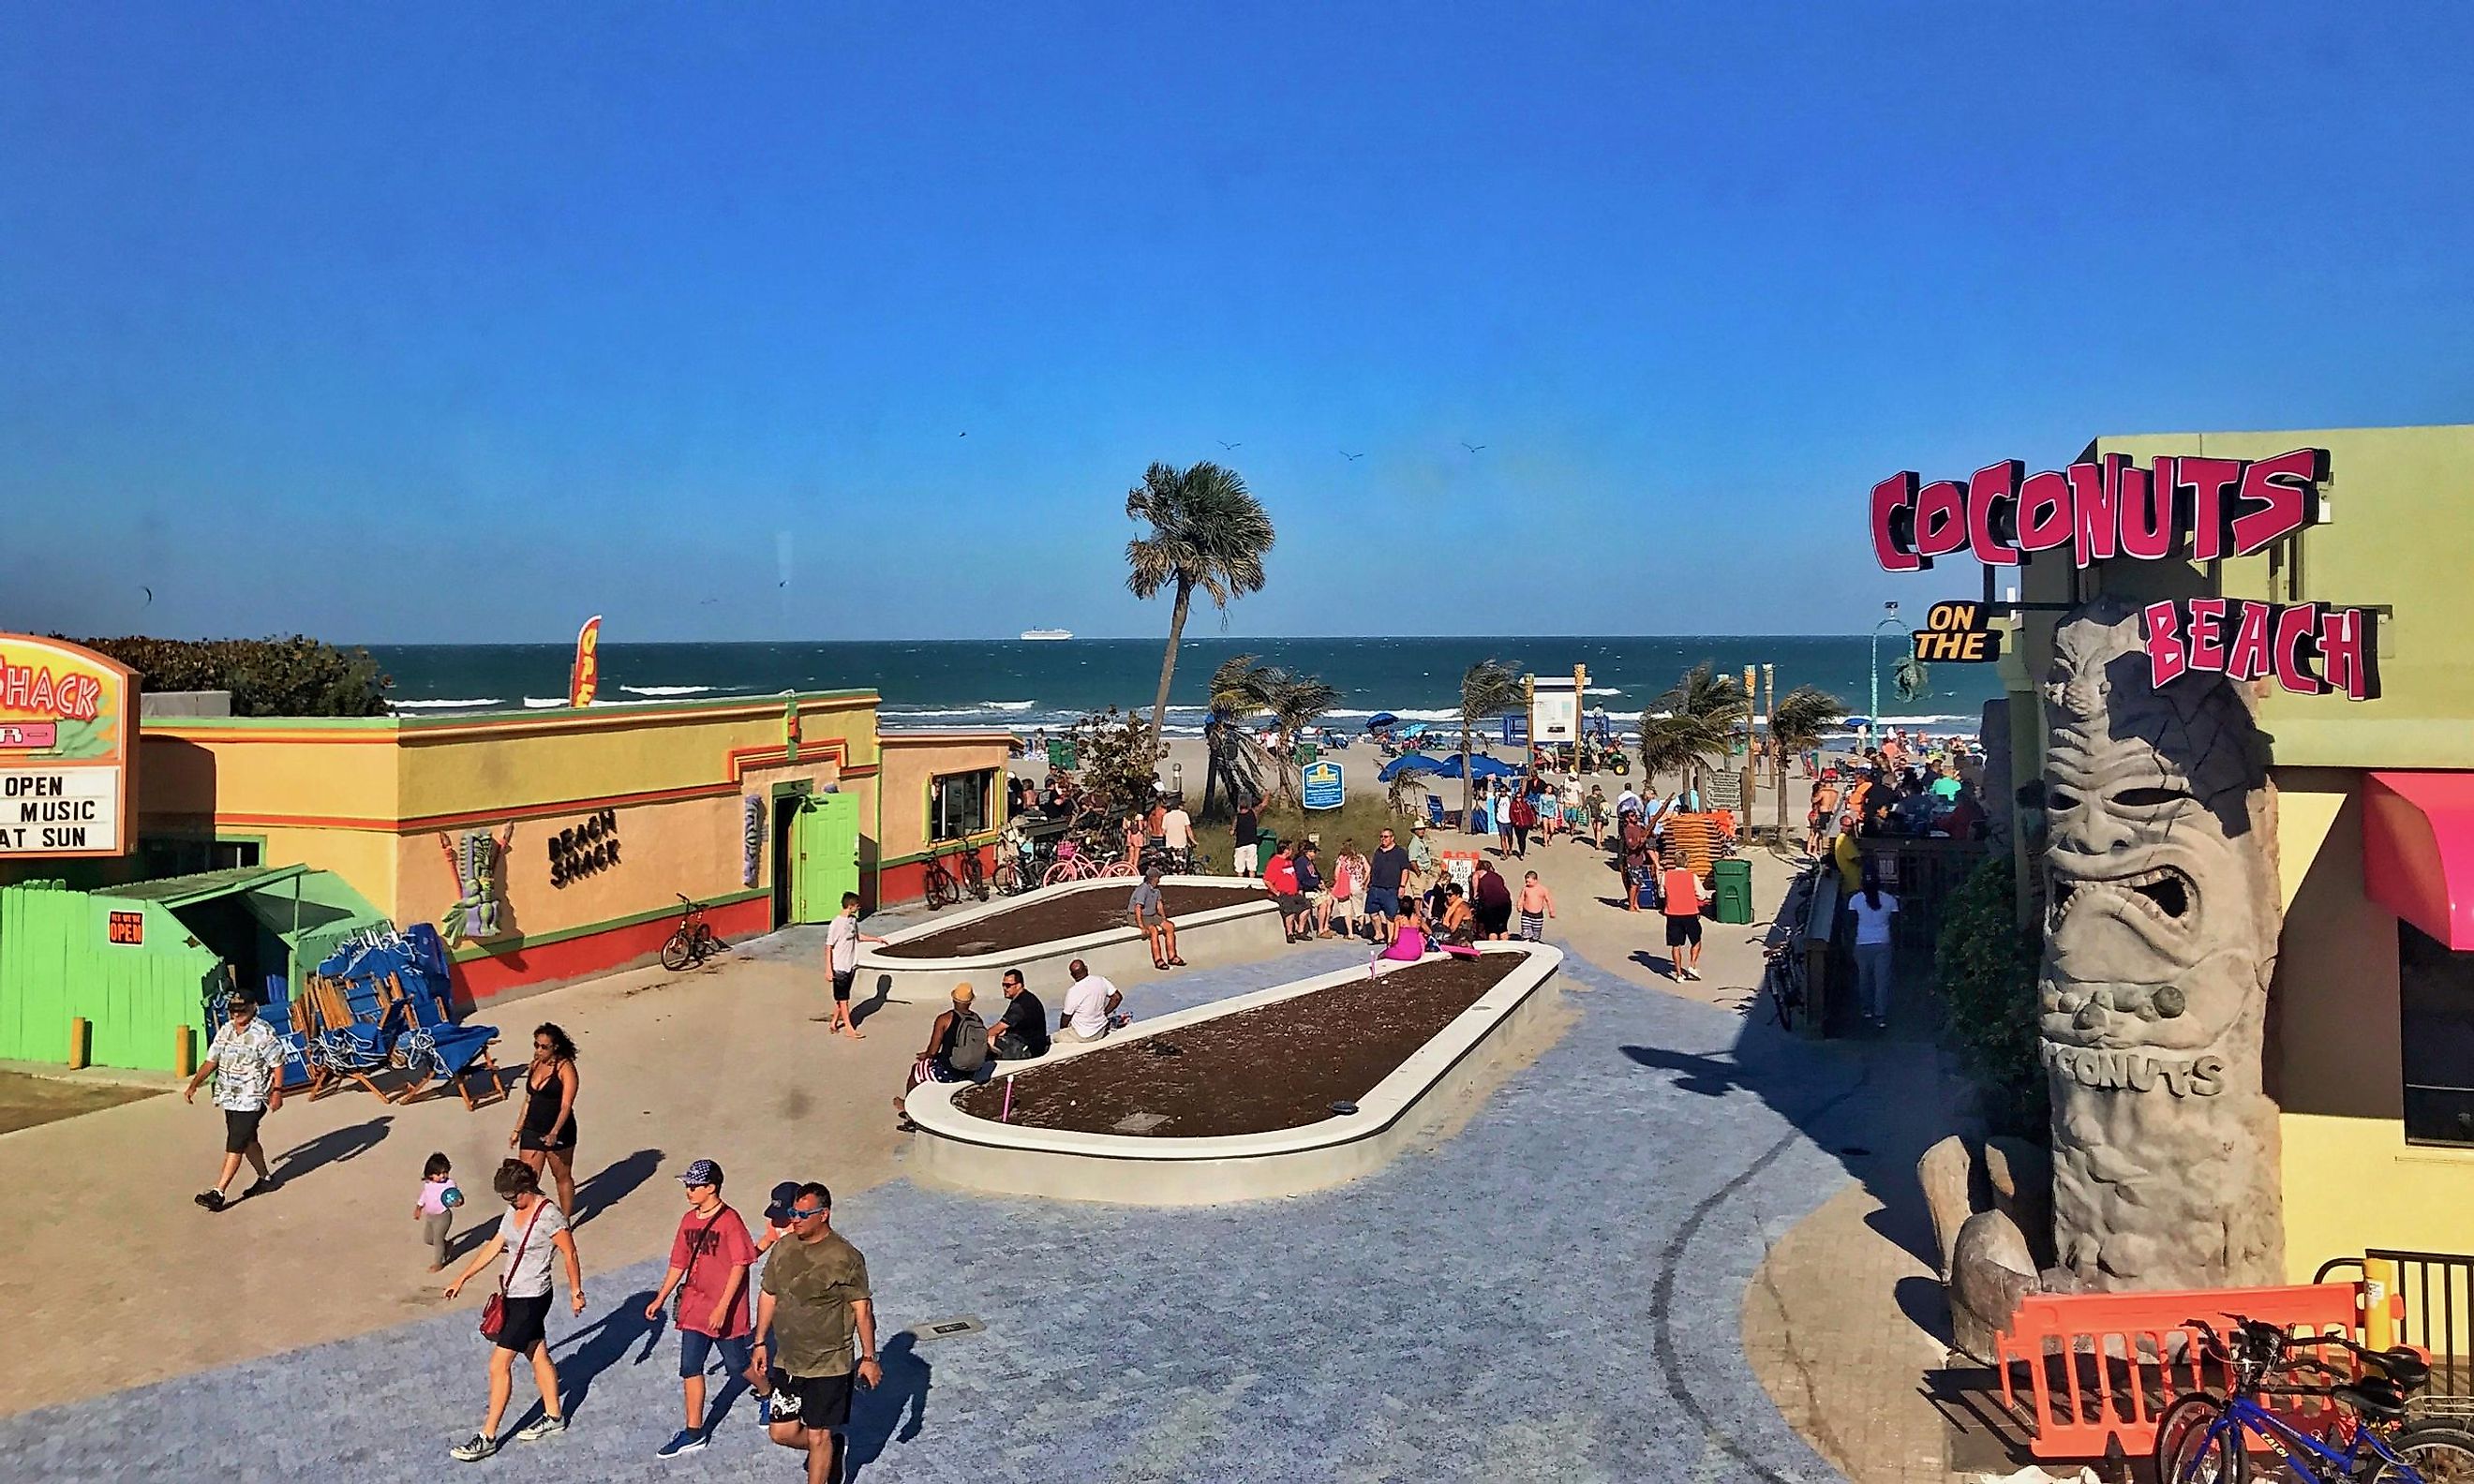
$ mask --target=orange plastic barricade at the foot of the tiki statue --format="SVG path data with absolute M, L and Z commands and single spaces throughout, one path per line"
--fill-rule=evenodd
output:
M 2281 1323 L 2296 1336 L 2360 1338 L 2363 1284 L 2288 1289 L 2197 1289 L 2165 1294 L 2029 1294 L 2011 1328 L 1994 1338 L 2001 1405 L 2029 1425 L 2039 1459 L 2098 1459 L 2120 1439 L 2125 1454 L 2155 1447 L 2157 1420 L 2182 1392 L 2229 1385 L 2224 1360 L 2199 1353 L 2204 1318 L 2227 1333 L 2229 1313 Z M 2350 1370 L 2343 1353 L 2326 1360 Z M 2016 1392 L 2026 1378 L 2026 1400 Z M 2326 1427 L 2326 1397 L 2261 1397 L 2303 1432 Z

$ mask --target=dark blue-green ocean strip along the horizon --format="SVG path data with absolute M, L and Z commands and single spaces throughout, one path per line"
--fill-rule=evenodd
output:
M 1972 732 L 1982 705 L 1999 695 L 1992 665 L 1932 665 L 1925 695 L 1893 700 L 1898 650 L 1900 641 L 1883 636 L 1883 725 Z M 569 646 L 547 643 L 371 646 L 371 653 L 396 680 L 388 695 L 406 712 L 567 705 L 574 658 Z M 1170 690 L 1170 735 L 1202 732 L 1202 688 L 1220 660 L 1239 653 L 1336 685 L 1341 702 L 1329 722 L 1341 730 L 1383 710 L 1403 720 L 1455 717 L 1460 675 L 1482 658 L 1549 675 L 1588 665 L 1588 707 L 1603 710 L 1618 730 L 1630 730 L 1700 660 L 1729 675 L 1776 665 L 1779 695 L 1818 685 L 1858 715 L 1870 695 L 1868 643 L 1846 636 L 1188 638 Z M 1111 705 L 1148 707 L 1158 683 L 1155 638 L 601 646 L 604 705 L 876 688 L 888 727 L 1059 730 Z

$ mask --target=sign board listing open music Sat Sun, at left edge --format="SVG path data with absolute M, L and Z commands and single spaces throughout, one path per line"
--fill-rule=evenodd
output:
M 129 853 L 134 693 L 99 653 L 0 633 L 0 861 Z

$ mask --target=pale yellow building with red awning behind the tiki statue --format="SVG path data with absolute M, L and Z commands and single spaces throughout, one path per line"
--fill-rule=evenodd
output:
M 2068 552 L 2019 571 L 2004 658 L 2014 777 L 2041 772 L 2034 683 L 2061 608 L 2100 594 L 2373 608 L 2378 695 L 2259 688 L 2279 794 L 2284 937 L 2266 1088 L 2286 1261 L 2464 1252 L 2474 1212 L 2474 425 L 2098 438 L 2081 460 L 2328 450 L 2323 519 L 2254 556 Z

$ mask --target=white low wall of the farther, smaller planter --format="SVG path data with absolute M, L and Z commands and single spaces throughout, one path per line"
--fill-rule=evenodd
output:
M 858 977 L 851 992 L 858 997 L 868 994 L 901 994 L 943 999 L 955 984 L 972 984 L 980 992 L 982 1014 L 990 1004 L 1002 1009 L 1002 1002 L 990 1002 L 997 994 L 997 974 L 1004 970 L 1022 970 L 1022 979 L 1039 994 L 1051 1009 L 1064 1002 L 1066 987 L 1066 962 L 1084 960 L 1091 965 L 1094 974 L 1106 974 L 1118 984 L 1133 984 L 1158 970 L 1150 967 L 1150 945 L 1143 935 L 1131 927 L 1108 927 L 1103 932 L 1084 932 L 1079 937 L 1051 937 L 1047 942 L 1034 942 L 1029 947 L 1002 947 L 992 952 L 975 952 L 962 957 L 896 957 L 886 950 L 910 942 L 913 937 L 928 937 L 933 932 L 952 932 L 967 927 L 982 918 L 995 918 L 1017 908 L 1037 905 L 1042 900 L 1054 900 L 1074 893 L 1111 893 L 1123 900 L 1133 895 L 1136 878 L 1131 876 L 1103 876 L 1098 881 L 1071 881 L 1066 885 L 1042 885 L 1039 890 L 1027 890 L 1017 898 L 997 898 L 985 905 L 975 905 L 962 913 L 933 918 L 903 927 L 886 937 L 883 945 L 866 945 L 858 952 Z M 1235 876 L 1163 876 L 1160 885 L 1212 885 L 1230 888 L 1239 885 Z M 1192 967 L 1205 965 L 1237 965 L 1269 957 L 1272 952 L 1286 947 L 1286 935 L 1279 930 L 1279 903 L 1269 893 L 1257 895 L 1225 908 L 1207 908 L 1190 915 L 1178 915 L 1178 957 Z

